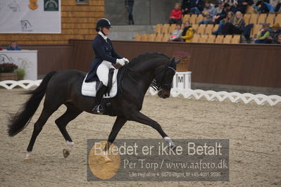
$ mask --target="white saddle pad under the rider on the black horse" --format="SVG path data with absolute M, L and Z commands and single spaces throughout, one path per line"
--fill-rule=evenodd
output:
M 117 73 L 118 70 L 114 71 L 113 74 L 113 78 L 112 78 L 112 88 L 111 88 L 111 92 L 108 94 L 106 94 L 106 96 L 104 96 L 104 98 L 113 98 L 116 96 L 117 94 Z M 85 79 L 87 78 L 87 75 L 85 77 Z M 96 96 L 96 82 L 85 82 L 85 79 L 83 80 L 83 84 L 82 84 L 82 95 L 83 96 L 91 96 L 91 97 L 95 97 Z

